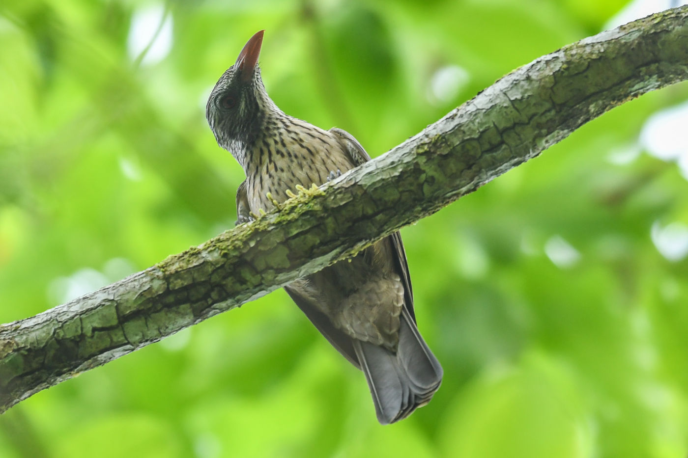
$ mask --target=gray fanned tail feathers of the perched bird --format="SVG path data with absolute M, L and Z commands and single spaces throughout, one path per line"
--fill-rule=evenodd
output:
M 427 404 L 442 382 L 442 366 L 403 309 L 396 354 L 370 342 L 354 341 L 361 369 L 381 424 L 397 422 Z

